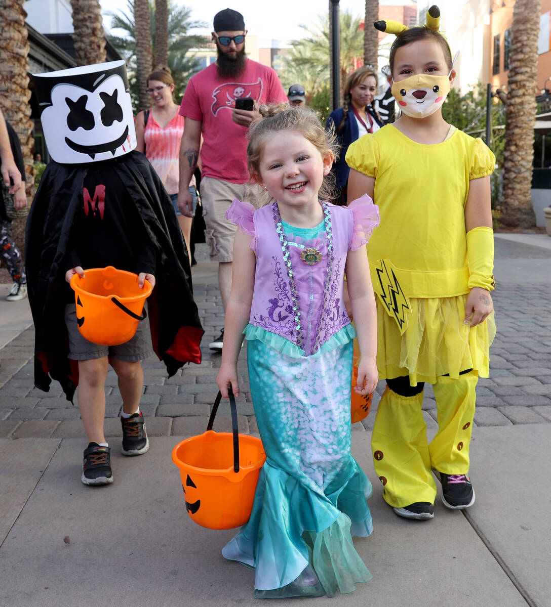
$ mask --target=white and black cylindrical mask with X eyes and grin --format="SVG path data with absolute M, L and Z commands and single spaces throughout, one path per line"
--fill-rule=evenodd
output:
M 128 154 L 136 146 L 125 61 L 33 75 L 53 160 L 83 164 Z

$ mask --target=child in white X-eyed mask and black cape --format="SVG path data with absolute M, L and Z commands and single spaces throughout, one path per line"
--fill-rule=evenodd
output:
M 149 161 L 134 151 L 134 117 L 124 61 L 34 76 L 47 165 L 27 221 L 26 266 L 35 323 L 35 385 L 52 379 L 78 406 L 86 431 L 81 481 L 113 481 L 104 436 L 104 383 L 109 364 L 121 395 L 123 455 L 148 450 L 140 396 L 141 361 L 154 350 L 174 375 L 200 363 L 203 333 L 191 292 L 187 249 L 176 213 Z M 148 319 L 125 344 L 84 339 L 86 309 L 69 280 L 115 266 L 152 287 Z M 78 325 L 78 326 L 77 326 Z

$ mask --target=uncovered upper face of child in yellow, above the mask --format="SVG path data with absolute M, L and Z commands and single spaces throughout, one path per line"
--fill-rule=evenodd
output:
M 446 63 L 442 46 L 430 38 L 416 40 L 396 50 L 392 77 L 394 82 L 405 80 L 416 74 L 447 76 L 450 68 Z M 452 71 L 450 82 L 453 83 L 455 72 Z M 389 83 L 392 83 L 389 76 Z

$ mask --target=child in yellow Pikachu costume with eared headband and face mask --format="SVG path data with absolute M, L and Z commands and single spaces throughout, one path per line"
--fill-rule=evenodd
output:
M 368 246 L 378 296 L 377 366 L 387 383 L 372 435 L 374 466 L 386 502 L 418 520 L 434 516 L 433 473 L 445 506 L 474 503 L 468 471 L 475 387 L 488 376 L 495 336 L 495 157 L 442 117 L 455 72 L 439 20 L 433 6 L 426 27 L 375 24 L 397 35 L 389 83 L 402 115 L 346 154 L 348 199 L 367 192 L 381 215 Z M 437 405 L 430 444 L 424 382 L 433 385 Z

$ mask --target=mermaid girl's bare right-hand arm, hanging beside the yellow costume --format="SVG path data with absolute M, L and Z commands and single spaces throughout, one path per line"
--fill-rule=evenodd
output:
M 378 381 L 377 362 L 377 313 L 375 295 L 369 276 L 369 263 L 366 248 L 349 251 L 346 258 L 346 277 L 348 293 L 354 314 L 354 325 L 360 345 L 360 364 L 358 365 L 358 394 L 369 394 L 375 390 Z

